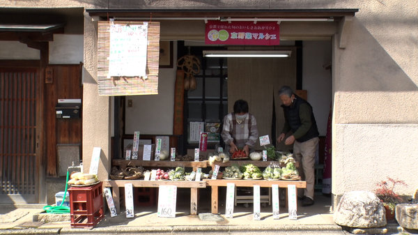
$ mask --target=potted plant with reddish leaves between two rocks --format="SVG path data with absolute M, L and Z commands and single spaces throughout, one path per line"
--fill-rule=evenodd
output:
M 407 186 L 405 181 L 392 179 L 390 177 L 387 177 L 387 181 L 380 181 L 376 184 L 377 188 L 375 194 L 380 201 L 382 201 L 383 206 L 385 206 L 387 220 L 393 220 L 395 218 L 396 204 L 403 202 L 402 197 L 394 192 L 396 185 Z

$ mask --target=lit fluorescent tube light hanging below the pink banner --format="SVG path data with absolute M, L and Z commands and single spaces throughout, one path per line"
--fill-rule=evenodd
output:
M 279 57 L 291 56 L 292 51 L 263 51 L 263 50 L 224 50 L 224 51 L 203 51 L 205 57 Z

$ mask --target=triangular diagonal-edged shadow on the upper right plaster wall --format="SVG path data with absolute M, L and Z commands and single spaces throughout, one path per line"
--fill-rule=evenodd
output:
M 353 19 L 347 47 L 340 53 L 340 91 L 418 90 L 417 84 L 357 18 Z

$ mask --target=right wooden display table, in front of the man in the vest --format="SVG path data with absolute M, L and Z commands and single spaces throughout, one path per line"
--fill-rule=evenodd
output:
M 277 184 L 279 188 L 287 188 L 288 185 L 295 185 L 297 188 L 307 188 L 306 181 L 267 181 L 267 180 L 228 180 L 228 179 L 204 179 L 207 185 L 212 188 L 211 195 L 211 212 L 218 213 L 218 187 L 226 187 L 227 183 L 234 183 L 235 187 L 253 187 L 260 185 L 263 188 L 272 188 L 272 185 Z M 297 193 L 297 190 L 296 190 Z M 286 191 L 287 194 L 287 191 Z M 287 196 L 287 195 L 286 195 Z M 287 199 L 287 197 L 286 197 Z

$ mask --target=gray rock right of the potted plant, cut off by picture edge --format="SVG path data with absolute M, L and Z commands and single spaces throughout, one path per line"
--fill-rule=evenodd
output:
M 397 204 L 395 217 L 405 229 L 418 229 L 418 204 Z

